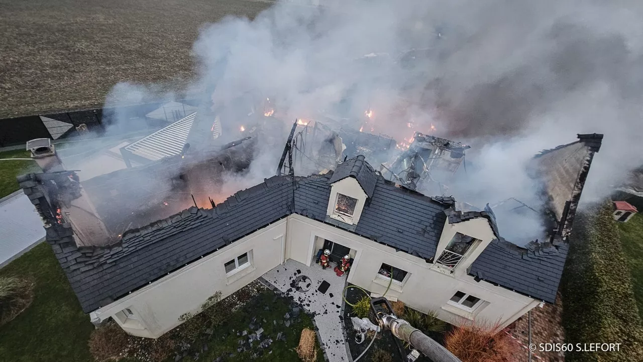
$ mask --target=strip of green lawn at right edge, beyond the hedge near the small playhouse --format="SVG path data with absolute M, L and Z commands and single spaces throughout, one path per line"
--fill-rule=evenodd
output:
M 620 244 L 632 274 L 638 314 L 643 318 L 643 215 L 637 213 L 628 222 L 618 222 Z

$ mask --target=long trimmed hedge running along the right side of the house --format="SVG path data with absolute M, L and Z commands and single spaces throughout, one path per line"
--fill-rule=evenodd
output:
M 561 293 L 565 343 L 621 343 L 566 353 L 567 362 L 643 361 L 643 328 L 611 203 L 577 214 Z M 552 341 L 556 343 L 557 341 Z

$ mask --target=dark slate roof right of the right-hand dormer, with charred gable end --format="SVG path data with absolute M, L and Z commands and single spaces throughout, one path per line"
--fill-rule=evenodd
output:
M 494 240 L 471 264 L 469 275 L 554 303 L 569 249 L 565 240 L 572 230 L 593 155 L 601 148 L 602 141 L 602 134 L 577 136 L 578 141 L 534 157 L 532 166 L 557 217 L 550 239 L 529 242 L 525 248 L 502 238 Z

